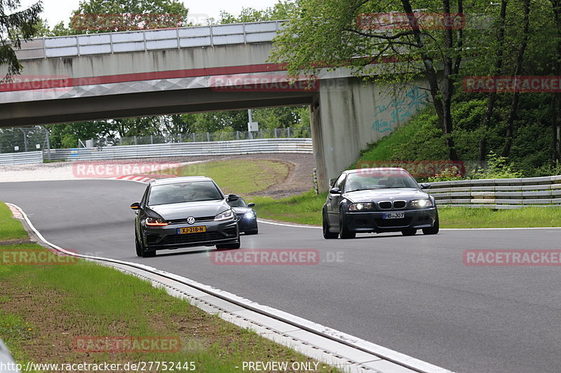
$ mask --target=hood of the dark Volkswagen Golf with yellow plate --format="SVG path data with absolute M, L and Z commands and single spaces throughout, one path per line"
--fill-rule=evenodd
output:
M 201 202 L 183 202 L 177 204 L 156 204 L 149 208 L 158 213 L 165 220 L 183 219 L 193 216 L 202 218 L 203 216 L 215 216 L 222 211 L 230 209 L 224 199 Z

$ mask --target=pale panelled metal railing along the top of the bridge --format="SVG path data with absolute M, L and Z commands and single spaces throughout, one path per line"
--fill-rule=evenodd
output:
M 113 54 L 272 41 L 285 21 L 216 24 L 105 34 L 36 38 L 22 43 L 18 59 Z

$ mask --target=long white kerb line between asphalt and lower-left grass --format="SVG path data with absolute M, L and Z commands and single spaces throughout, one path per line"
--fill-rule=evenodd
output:
M 58 251 L 61 251 L 62 253 L 65 253 L 67 255 L 72 255 L 72 256 L 75 256 L 75 257 L 78 257 L 78 258 L 85 258 L 85 259 L 89 259 L 89 260 L 104 260 L 104 261 L 107 261 L 109 263 L 109 265 L 111 265 L 111 263 L 114 263 L 114 264 L 117 265 L 117 266 L 114 266 L 114 267 L 119 267 L 118 265 L 126 265 L 126 266 L 130 266 L 130 267 L 133 267 L 133 268 L 136 268 L 136 269 L 141 269 L 141 270 L 145 269 L 150 274 L 153 274 L 154 272 L 156 272 L 157 274 L 161 274 L 162 276 L 167 276 L 168 279 L 175 279 L 177 281 L 180 281 L 181 283 L 187 284 L 188 286 L 192 286 L 195 289 L 203 290 L 207 294 L 215 295 L 215 296 L 221 298 L 222 300 L 224 300 L 224 299 L 231 300 L 231 302 L 233 302 L 233 304 L 243 304 L 246 309 L 260 311 L 260 313 L 262 315 L 265 315 L 265 316 L 270 315 L 269 317 L 272 317 L 272 318 L 274 318 L 278 321 L 283 321 L 284 320 L 285 322 L 290 323 L 291 325 L 300 325 L 300 328 L 302 328 L 302 330 L 306 330 L 308 332 L 313 332 L 316 335 L 323 335 L 323 336 L 325 336 L 325 338 L 329 339 L 331 342 L 338 341 L 339 343 L 344 344 L 345 346 L 354 346 L 356 351 L 368 351 L 373 356 L 377 356 L 378 358 L 388 360 L 388 363 L 396 362 L 400 365 L 403 365 L 403 367 L 409 367 L 412 370 L 415 370 L 417 372 L 422 372 L 422 373 L 453 373 L 450 370 L 447 370 L 447 369 L 442 368 L 442 367 L 438 367 L 438 366 L 433 365 L 431 363 L 427 363 L 423 360 L 413 358 L 412 356 L 407 356 L 404 353 L 400 353 L 398 351 L 393 351 L 391 349 L 386 349 L 386 347 L 379 346 L 378 344 L 368 342 L 368 341 L 366 341 L 364 339 L 360 339 L 358 337 L 354 337 L 353 335 L 349 335 L 349 334 L 346 334 L 344 332 L 339 332 L 338 330 L 327 328 L 324 325 L 314 323 L 313 321 L 306 320 L 305 318 L 301 318 L 299 316 L 288 314 L 285 311 L 280 311 L 280 310 L 274 309 L 272 307 L 268 307 L 268 306 L 264 306 L 262 304 L 258 304 L 256 302 L 252 302 L 251 300 L 245 299 L 243 297 L 239 297 L 238 295 L 228 293 L 224 290 L 219 290 L 217 288 L 213 288 L 212 286 L 204 285 L 203 283 L 198 283 L 196 281 L 193 281 L 191 279 L 187 279 L 186 277 L 182 277 L 182 276 L 179 276 L 177 274 L 172 274 L 170 272 L 161 271 L 160 269 L 156 269 L 154 267 L 149 267 L 147 265 L 142 265 L 142 264 L 139 264 L 139 263 L 125 262 L 123 260 L 115 260 L 115 259 L 111 259 L 111 258 L 102 258 L 102 257 L 96 257 L 96 256 L 92 256 L 92 255 L 81 255 L 81 254 L 72 253 L 72 251 L 67 251 L 64 248 L 61 248 L 60 246 L 56 246 L 55 244 L 51 244 L 49 241 L 47 241 L 45 239 L 45 237 L 43 237 L 43 235 L 39 232 L 39 230 L 36 230 L 34 225 L 31 223 L 31 220 L 29 220 L 29 217 L 27 216 L 27 214 L 22 209 L 20 209 L 19 206 L 16 206 L 15 204 L 10 204 L 10 203 L 7 203 L 7 202 L 6 202 L 6 205 L 12 206 L 13 208 L 18 209 L 22 213 L 22 216 L 23 216 L 25 222 L 27 223 L 29 228 L 34 232 L 34 234 L 36 234 L 36 237 L 41 239 L 41 241 L 43 241 L 48 246 L 51 246 L 51 247 L 57 249 Z M 349 359 L 347 359 L 347 360 L 349 360 Z M 376 362 L 373 362 L 373 363 L 376 363 Z M 395 365 L 393 363 L 391 363 L 391 364 Z M 407 368 L 405 368 L 405 369 L 407 369 Z M 387 373 L 396 372 L 395 368 L 392 368 L 392 367 L 388 367 L 387 370 L 386 369 L 377 369 L 376 371 L 378 373 L 384 373 L 384 371 L 387 372 Z

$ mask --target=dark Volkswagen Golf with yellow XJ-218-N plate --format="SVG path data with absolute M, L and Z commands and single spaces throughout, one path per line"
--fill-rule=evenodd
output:
M 157 250 L 189 246 L 240 248 L 236 213 L 218 185 L 205 176 L 165 178 L 148 185 L 140 202 L 130 205 L 137 213 L 135 244 L 138 256 Z

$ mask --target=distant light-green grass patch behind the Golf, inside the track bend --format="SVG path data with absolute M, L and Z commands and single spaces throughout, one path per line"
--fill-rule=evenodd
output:
M 168 170 L 177 176 L 208 176 L 224 188 L 224 192 L 239 195 L 259 192 L 278 184 L 288 176 L 288 171 L 288 164 L 284 162 L 244 159 L 187 164 L 177 170 Z

